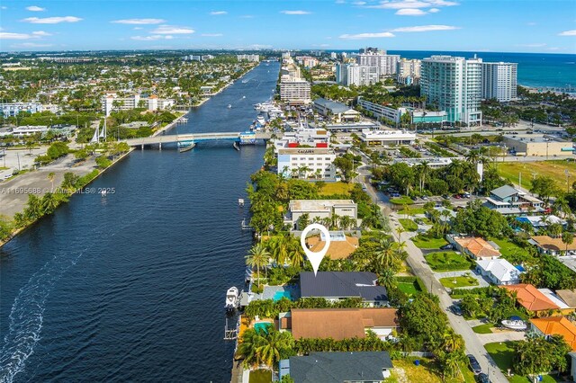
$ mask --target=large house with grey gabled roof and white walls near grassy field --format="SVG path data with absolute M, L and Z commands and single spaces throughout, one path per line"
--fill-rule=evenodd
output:
M 510 185 L 500 186 L 490 192 L 485 206 L 502 215 L 520 215 L 544 211 L 544 202 Z

